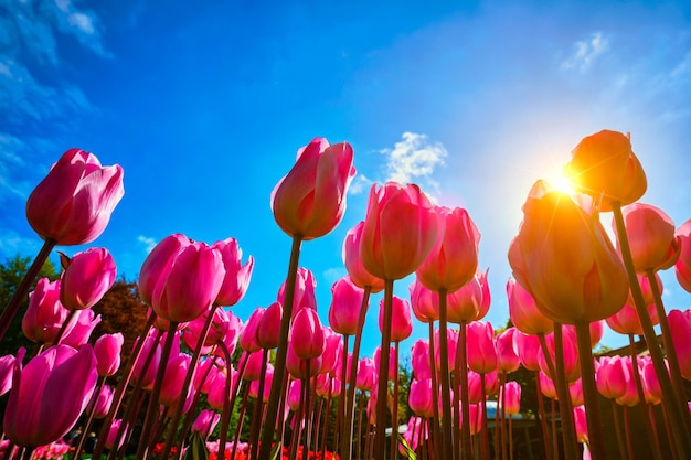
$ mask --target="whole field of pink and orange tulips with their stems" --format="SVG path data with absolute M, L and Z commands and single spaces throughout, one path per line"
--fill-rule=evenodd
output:
M 44 243 L 0 315 L 0 340 L 21 317 L 35 344 L 0 357 L 2 458 L 691 459 L 691 309 L 666 309 L 659 277 L 673 270 L 691 292 L 691 220 L 639 202 L 649 184 L 627 135 L 581 140 L 564 159 L 571 191 L 535 181 L 507 248 L 506 328 L 483 320 L 481 228 L 396 182 L 371 189 L 343 240 L 348 276 L 318 314 L 301 245 L 341 222 L 353 163 L 346 142 L 299 151 L 272 193 L 287 276 L 247 318 L 230 309 L 254 268 L 240 242 L 160 240 L 137 280 L 146 324 L 124 353 L 121 332 L 93 333 L 116 280 L 107 248 L 61 253 L 60 279 L 38 276 L 54 250 L 95 242 L 124 196 L 119 165 L 66 151 L 26 201 Z M 411 275 L 410 297 L 394 295 Z M 401 350 L 414 321 L 428 338 Z M 594 355 L 604 328 L 630 346 Z

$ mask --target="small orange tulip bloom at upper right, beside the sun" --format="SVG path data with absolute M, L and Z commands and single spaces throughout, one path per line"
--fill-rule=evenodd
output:
M 603 130 L 585 137 L 572 151 L 566 176 L 578 192 L 602 200 L 600 211 L 612 211 L 640 199 L 648 186 L 646 173 L 621 132 Z

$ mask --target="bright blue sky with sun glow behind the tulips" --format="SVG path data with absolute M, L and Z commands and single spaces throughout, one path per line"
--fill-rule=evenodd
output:
M 341 225 L 302 246 L 325 322 L 343 237 L 374 182 L 415 182 L 468 210 L 496 325 L 524 197 L 583 137 L 631 132 L 649 181 L 641 202 L 678 226 L 691 217 L 685 1 L 0 0 L 0 259 L 38 252 L 25 200 L 72 147 L 125 170 L 125 197 L 92 246 L 134 280 L 171 233 L 235 237 L 255 257 L 241 318 L 270 304 L 286 276 L 290 239 L 269 195 L 317 136 L 350 142 L 358 169 Z M 688 308 L 673 272 L 663 280 L 667 307 Z M 402 347 L 425 335 L 416 324 Z

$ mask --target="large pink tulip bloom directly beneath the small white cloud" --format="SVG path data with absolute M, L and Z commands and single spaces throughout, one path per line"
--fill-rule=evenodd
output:
M 370 191 L 360 258 L 372 275 L 396 280 L 415 271 L 437 239 L 437 217 L 415 184 L 387 182 Z

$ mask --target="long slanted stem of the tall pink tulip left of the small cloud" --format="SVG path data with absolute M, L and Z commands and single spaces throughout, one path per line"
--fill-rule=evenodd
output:
M 269 393 L 266 406 L 266 419 L 268 424 L 264 424 L 262 431 L 262 440 L 259 443 L 259 459 L 270 460 L 272 443 L 274 442 L 274 432 L 276 431 L 276 422 L 278 420 L 278 409 L 283 400 L 284 377 L 286 374 L 286 354 L 288 352 L 288 334 L 290 333 L 290 322 L 293 321 L 293 302 L 295 300 L 295 282 L 298 275 L 298 263 L 300 259 L 300 246 L 302 245 L 302 236 L 295 235 L 293 237 L 293 246 L 290 248 L 290 260 L 288 263 L 288 275 L 286 276 L 286 292 L 284 296 L 283 317 L 280 319 L 280 335 L 278 336 L 278 349 L 276 350 L 276 360 L 274 362 L 274 378 L 272 379 L 272 391 Z M 283 408 L 280 408 L 283 414 Z M 283 415 L 281 415 L 283 420 Z M 281 440 L 279 439 L 280 443 Z

